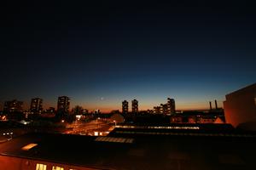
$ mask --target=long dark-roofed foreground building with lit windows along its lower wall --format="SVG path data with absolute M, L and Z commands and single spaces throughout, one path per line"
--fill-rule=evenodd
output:
M 135 130 L 126 130 L 131 135 L 26 134 L 0 144 L 0 169 L 245 170 L 256 165 L 254 135 L 201 135 L 189 131 L 132 135 Z

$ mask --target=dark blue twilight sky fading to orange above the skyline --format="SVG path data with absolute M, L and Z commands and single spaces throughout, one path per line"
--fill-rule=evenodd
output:
M 206 3 L 207 2 L 207 3 Z M 89 110 L 178 110 L 256 82 L 256 11 L 247 1 L 20 2 L 3 6 L 0 102 L 58 96 Z M 130 107 L 131 108 L 131 107 Z M 1 109 L 1 107 L 0 107 Z

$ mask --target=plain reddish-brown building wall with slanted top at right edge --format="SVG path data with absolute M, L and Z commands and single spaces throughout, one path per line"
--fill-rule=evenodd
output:
M 256 122 L 256 83 L 226 95 L 224 114 L 227 123 L 234 127 Z

